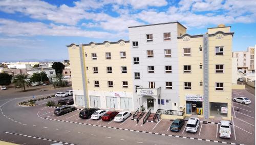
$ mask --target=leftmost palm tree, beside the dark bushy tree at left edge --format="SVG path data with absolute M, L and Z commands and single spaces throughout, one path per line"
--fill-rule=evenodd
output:
M 23 88 L 26 91 L 26 87 L 30 86 L 28 75 L 18 74 L 14 77 L 15 88 Z

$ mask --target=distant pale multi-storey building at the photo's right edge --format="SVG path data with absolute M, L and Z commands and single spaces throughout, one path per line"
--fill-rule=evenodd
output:
M 232 57 L 237 58 L 238 70 L 243 73 L 255 72 L 254 68 L 254 49 L 255 47 L 248 47 L 244 52 L 232 52 Z

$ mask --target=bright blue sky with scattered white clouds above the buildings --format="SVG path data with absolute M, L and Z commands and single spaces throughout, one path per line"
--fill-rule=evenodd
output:
M 231 26 L 233 51 L 256 44 L 255 0 L 0 1 L 0 62 L 61 61 L 71 43 L 129 40 L 129 26 L 172 21 L 190 35 Z

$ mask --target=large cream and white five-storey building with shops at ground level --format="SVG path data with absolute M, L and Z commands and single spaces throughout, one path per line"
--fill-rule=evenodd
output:
M 71 44 L 75 105 L 231 119 L 232 36 L 224 25 L 188 35 L 169 22 L 129 27 L 130 42 Z

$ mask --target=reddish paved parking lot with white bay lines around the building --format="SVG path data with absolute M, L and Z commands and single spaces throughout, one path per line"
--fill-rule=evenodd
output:
M 230 143 L 240 143 L 240 144 L 254 144 L 254 96 L 248 93 L 245 90 L 234 90 L 232 96 L 236 97 L 237 95 L 244 95 L 251 100 L 251 104 L 244 105 L 236 102 L 232 102 L 232 126 L 231 126 L 231 139 L 222 139 L 219 138 L 219 124 L 200 123 L 197 133 L 187 133 L 185 131 L 185 125 L 182 127 L 180 132 L 171 132 L 169 130 L 172 121 L 168 119 L 160 119 L 157 123 L 147 122 L 142 125 L 143 119 L 140 119 L 140 122 L 137 124 L 135 120 L 132 120 L 132 116 L 127 118 L 124 122 L 116 123 L 113 120 L 110 122 L 104 122 L 101 119 L 81 119 L 79 118 L 80 110 L 75 110 L 73 112 L 67 113 L 62 116 L 53 115 L 53 111 L 56 108 L 46 107 L 39 111 L 38 116 L 42 118 L 49 118 L 53 120 L 65 120 L 71 123 L 82 123 L 95 126 L 105 126 L 113 128 L 122 128 L 130 129 L 136 131 L 143 131 L 153 134 L 168 134 L 175 135 L 179 137 L 189 137 L 189 138 L 199 138 L 199 140 L 213 140 L 213 141 L 222 141 Z M 57 100 L 57 99 L 56 99 Z

